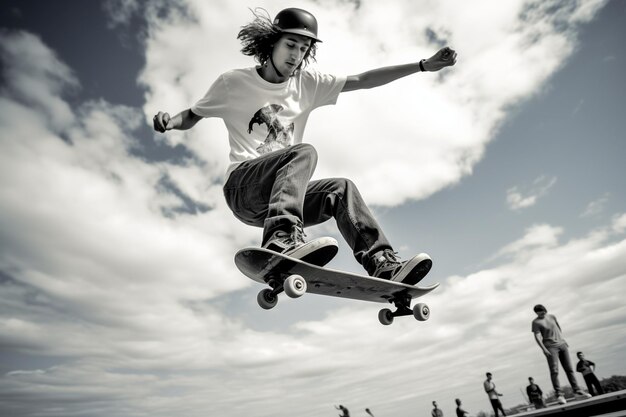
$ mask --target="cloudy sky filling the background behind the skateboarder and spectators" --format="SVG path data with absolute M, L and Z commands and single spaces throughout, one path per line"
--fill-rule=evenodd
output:
M 428 252 L 431 319 L 320 296 L 262 311 L 238 273 L 260 230 L 221 186 L 225 128 L 155 134 L 231 68 L 250 7 L 313 12 L 315 64 L 360 73 L 459 54 L 342 94 L 305 140 L 353 179 L 401 256 Z M 626 2 L 2 2 L 0 411 L 20 416 L 445 415 L 505 407 L 543 303 L 600 377 L 626 374 Z M 308 231 L 341 240 L 334 222 Z M 335 268 L 360 272 L 343 242 Z M 579 378 L 582 383 L 582 378 Z M 565 378 L 562 377 L 565 383 Z

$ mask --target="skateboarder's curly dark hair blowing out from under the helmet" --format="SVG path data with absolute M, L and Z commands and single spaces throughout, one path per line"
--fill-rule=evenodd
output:
M 241 53 L 247 56 L 253 56 L 261 65 L 265 65 L 272 56 L 274 44 L 278 42 L 283 35 L 278 27 L 276 27 L 269 16 L 267 10 L 262 8 L 250 9 L 254 15 L 254 20 L 247 25 L 241 27 L 237 34 L 237 39 L 241 41 L 243 47 Z M 314 40 L 302 59 L 300 67 L 305 67 L 311 60 L 315 61 L 315 53 L 317 45 Z

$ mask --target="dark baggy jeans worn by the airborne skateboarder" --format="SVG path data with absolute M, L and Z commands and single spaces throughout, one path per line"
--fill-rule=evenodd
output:
M 306 143 L 245 161 L 224 185 L 226 203 L 242 222 L 263 227 L 263 244 L 277 230 L 334 217 L 354 257 L 368 269 L 372 255 L 391 245 L 354 183 L 310 181 L 316 165 L 317 151 Z

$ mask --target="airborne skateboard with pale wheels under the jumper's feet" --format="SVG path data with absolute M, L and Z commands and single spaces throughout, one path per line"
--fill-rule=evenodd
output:
M 235 254 L 235 265 L 248 278 L 269 285 L 270 288 L 261 290 L 257 296 L 257 302 L 263 309 L 275 307 L 281 292 L 290 298 L 311 293 L 394 304 L 394 311 L 384 308 L 378 313 L 378 320 L 384 325 L 390 325 L 398 316 L 412 315 L 419 321 L 428 320 L 428 306 L 417 303 L 411 309 L 411 301 L 439 286 L 420 287 L 337 271 L 257 247 L 239 250 Z

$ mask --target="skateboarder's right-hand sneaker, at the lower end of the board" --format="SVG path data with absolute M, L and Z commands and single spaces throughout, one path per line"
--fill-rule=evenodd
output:
M 415 255 L 408 261 L 400 262 L 396 253 L 387 249 L 374 258 L 375 269 L 370 275 L 376 278 L 415 285 L 428 274 L 432 265 L 433 261 L 425 253 Z

